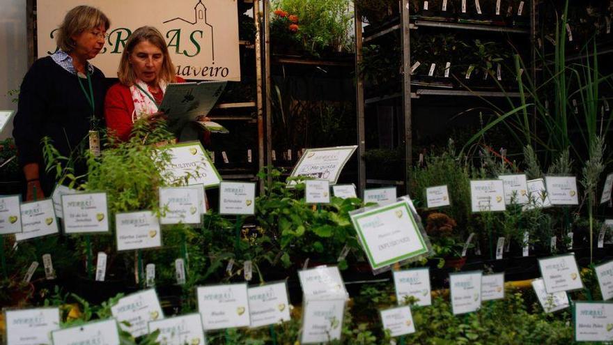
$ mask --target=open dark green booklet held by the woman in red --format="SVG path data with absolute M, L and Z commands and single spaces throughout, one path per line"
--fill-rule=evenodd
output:
M 208 115 L 225 87 L 226 82 L 168 84 L 158 109 L 168 116 L 169 130 L 178 137 L 187 123 Z

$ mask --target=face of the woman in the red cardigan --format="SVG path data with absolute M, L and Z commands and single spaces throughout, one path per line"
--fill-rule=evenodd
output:
M 162 49 L 148 40 L 143 40 L 134 47 L 128 61 L 130 61 L 130 66 L 139 79 L 146 84 L 156 86 L 157 78 L 160 76 L 160 70 L 162 70 L 162 64 L 164 63 Z

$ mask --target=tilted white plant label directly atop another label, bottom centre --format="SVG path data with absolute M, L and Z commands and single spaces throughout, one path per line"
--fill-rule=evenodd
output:
M 299 270 L 298 278 L 302 293 L 307 300 L 330 300 L 348 298 L 341 272 L 336 266 L 319 266 L 307 270 Z

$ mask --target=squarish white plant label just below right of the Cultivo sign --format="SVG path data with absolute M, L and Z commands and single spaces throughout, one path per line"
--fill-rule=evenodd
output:
M 220 215 L 253 215 L 255 210 L 255 183 L 222 182 L 219 185 Z

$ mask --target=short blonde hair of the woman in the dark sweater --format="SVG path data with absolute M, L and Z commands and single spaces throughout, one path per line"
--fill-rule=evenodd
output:
M 77 6 L 69 10 L 64 17 L 64 21 L 58 29 L 56 43 L 64 52 L 72 52 L 77 46 L 72 36 L 79 35 L 83 31 L 95 29 L 104 25 L 104 29 L 109 29 L 111 21 L 101 10 L 91 6 Z

